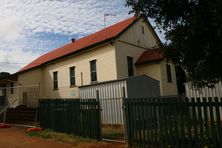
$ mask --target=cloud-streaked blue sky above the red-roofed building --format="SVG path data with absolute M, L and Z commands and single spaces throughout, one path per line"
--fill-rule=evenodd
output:
M 1 0 L 0 72 L 14 73 L 71 38 L 103 29 L 105 13 L 116 14 L 107 17 L 109 26 L 130 10 L 125 0 Z

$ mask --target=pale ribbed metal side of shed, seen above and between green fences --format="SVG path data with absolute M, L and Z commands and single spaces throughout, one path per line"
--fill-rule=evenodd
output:
M 123 124 L 122 98 L 123 88 L 127 97 L 126 87 L 126 80 L 89 85 L 79 88 L 79 96 L 82 99 L 96 98 L 98 90 L 102 124 Z

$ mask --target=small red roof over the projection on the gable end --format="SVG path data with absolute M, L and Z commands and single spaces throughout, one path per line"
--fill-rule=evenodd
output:
M 136 64 L 143 64 L 143 63 L 148 63 L 148 62 L 158 61 L 158 60 L 163 60 L 163 59 L 164 59 L 163 52 L 150 49 L 143 52 L 143 54 L 136 61 Z

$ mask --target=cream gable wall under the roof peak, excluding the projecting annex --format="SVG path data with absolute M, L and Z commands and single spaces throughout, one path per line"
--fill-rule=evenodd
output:
M 145 31 L 144 34 L 142 33 L 142 26 Z M 144 51 L 158 46 L 157 39 L 151 29 L 141 18 L 117 39 L 115 51 L 118 79 L 128 77 L 127 56 L 133 57 L 133 62 L 136 63 Z M 135 67 L 134 74 L 137 74 Z

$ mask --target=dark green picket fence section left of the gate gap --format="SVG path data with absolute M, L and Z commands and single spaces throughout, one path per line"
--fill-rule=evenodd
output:
M 100 109 L 96 99 L 41 99 L 40 126 L 57 132 L 100 139 Z

